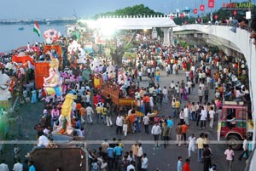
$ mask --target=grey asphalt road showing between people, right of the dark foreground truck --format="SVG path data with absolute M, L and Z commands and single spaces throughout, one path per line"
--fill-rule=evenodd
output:
M 185 80 L 185 74 L 183 71 L 179 71 L 179 74 L 174 76 L 171 75 L 169 77 L 166 77 L 166 73 L 164 71 L 161 71 L 161 77 L 160 77 L 160 87 L 163 88 L 164 86 L 169 87 L 171 81 L 173 80 L 175 83 L 177 81 L 181 82 L 181 80 Z M 148 86 L 148 78 L 143 77 L 143 83 L 141 83 L 141 86 Z M 194 92 L 197 92 L 197 87 L 195 88 Z M 213 90 L 210 90 L 210 94 L 213 94 Z M 213 95 L 209 97 L 209 101 L 213 99 Z M 197 95 L 189 96 L 190 101 L 194 101 L 195 103 L 198 101 Z M 182 105 L 186 105 L 187 101 L 183 101 Z M 160 116 L 170 116 L 172 114 L 171 105 L 163 105 L 163 109 L 160 111 Z M 113 119 L 114 121 L 114 119 Z M 175 120 L 175 123 L 178 123 L 177 119 Z M 214 122 L 214 129 L 210 130 L 209 123 L 207 123 L 206 129 L 199 129 L 196 127 L 194 122 L 190 122 L 188 134 L 194 133 L 196 137 L 201 134 L 203 131 L 204 133 L 207 133 L 209 135 L 209 140 L 217 140 L 217 121 Z M 150 127 L 151 128 L 151 127 Z M 151 129 L 149 129 L 151 130 Z M 172 130 L 172 133 L 174 134 L 174 130 Z M 128 140 L 128 143 L 133 143 L 136 140 L 143 141 L 143 140 L 154 140 L 152 135 L 142 133 L 137 134 L 128 134 L 127 137 L 125 136 L 118 136 L 115 134 L 115 128 L 109 128 L 103 124 L 94 124 L 89 125 L 86 127 L 86 140 L 98 140 L 99 143 L 102 142 L 105 138 L 108 140 L 112 140 L 113 137 L 116 139 L 121 140 Z M 176 137 L 174 137 L 175 139 Z M 172 139 L 173 140 L 173 139 Z M 99 145 L 89 145 L 90 148 L 98 148 Z M 216 163 L 218 166 L 218 170 L 225 171 L 227 170 L 227 163 L 225 161 L 224 157 L 224 151 L 226 149 L 226 145 L 210 145 L 214 157 L 212 158 L 212 163 Z M 125 144 L 124 151 L 130 151 L 131 144 Z M 160 168 L 161 171 L 169 171 L 169 170 L 176 170 L 177 169 L 177 157 L 181 156 L 183 157 L 183 161 L 186 157 L 188 157 L 188 150 L 185 145 L 182 147 L 177 147 L 177 145 L 168 145 L 167 148 L 163 148 L 163 145 L 160 146 L 160 148 L 155 148 L 154 144 L 144 144 L 143 145 L 143 151 L 148 154 L 148 160 L 149 160 L 149 168 L 148 170 L 154 171 L 156 168 Z M 241 151 L 235 151 L 235 155 L 237 158 L 237 155 L 240 154 Z M 233 171 L 243 170 L 245 168 L 245 162 L 239 162 L 237 159 L 233 163 Z M 197 156 L 191 157 L 190 162 L 191 170 L 198 171 L 203 170 L 203 164 L 197 162 Z

